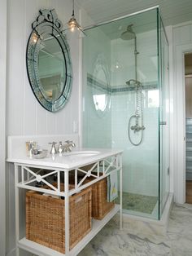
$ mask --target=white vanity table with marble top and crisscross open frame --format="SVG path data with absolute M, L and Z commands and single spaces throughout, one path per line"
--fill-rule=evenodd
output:
M 57 137 L 57 136 L 55 136 Z M 9 137 L 8 139 L 8 162 L 14 163 L 15 166 L 15 232 L 16 232 L 16 246 L 17 255 L 19 255 L 19 248 L 24 249 L 28 252 L 37 255 L 45 256 L 61 256 L 70 255 L 75 256 L 81 252 L 81 249 L 89 243 L 89 241 L 104 227 L 104 225 L 118 212 L 120 212 L 120 227 L 122 227 L 122 161 L 121 161 L 121 150 L 116 149 L 79 149 L 74 150 L 71 153 L 63 153 L 62 156 L 50 155 L 44 159 L 30 159 L 24 152 L 24 141 L 29 138 L 26 137 Z M 32 138 L 34 139 L 34 138 Z M 44 137 L 42 140 L 37 138 L 37 141 L 47 143 L 49 137 Z M 57 139 L 57 138 L 54 138 Z M 59 138 L 57 140 L 65 139 Z M 70 138 L 73 139 L 74 138 Z M 75 138 L 76 140 L 76 138 Z M 43 142 L 44 141 L 44 142 Z M 19 150 L 15 150 L 15 145 L 20 142 L 21 147 Z M 90 165 L 89 169 L 82 170 L 81 167 Z M 34 171 L 34 168 L 46 170 L 46 174 L 41 175 Z M 68 181 L 70 171 L 75 172 L 75 188 L 69 190 Z M 94 170 L 94 174 L 93 171 Z M 96 170 L 96 174 L 95 174 Z M 77 174 L 82 172 L 84 178 L 78 181 Z M 71 250 L 69 250 L 69 196 L 80 192 L 82 189 L 89 185 L 98 182 L 98 180 L 106 178 L 113 172 L 120 172 L 119 179 L 119 190 L 120 190 L 120 205 L 115 207 L 102 219 L 92 220 L 91 231 Z M 60 190 L 60 176 L 61 173 L 64 175 L 64 192 Z M 58 187 L 55 188 L 51 183 L 47 181 L 50 175 L 55 175 Z M 89 180 L 88 183 L 83 183 L 86 178 L 93 176 L 94 180 Z M 34 182 L 41 182 L 47 185 L 48 188 L 37 188 L 33 185 Z M 55 196 L 64 196 L 65 198 L 65 254 L 61 254 L 54 249 L 50 249 L 46 246 L 37 244 L 33 241 L 29 241 L 24 236 L 24 219 L 20 220 L 20 203 L 23 198 L 20 198 L 20 190 L 34 190 L 37 192 L 46 192 Z M 20 230 L 20 222 L 23 221 L 23 230 Z

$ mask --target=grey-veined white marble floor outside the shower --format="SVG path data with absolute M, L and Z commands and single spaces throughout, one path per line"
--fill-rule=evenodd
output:
M 107 225 L 78 256 L 192 256 L 192 205 L 173 205 L 166 236 Z

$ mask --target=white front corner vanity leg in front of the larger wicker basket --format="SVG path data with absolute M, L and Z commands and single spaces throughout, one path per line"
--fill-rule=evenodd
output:
M 68 171 L 64 172 L 65 192 L 65 255 L 69 255 L 69 200 L 68 200 Z

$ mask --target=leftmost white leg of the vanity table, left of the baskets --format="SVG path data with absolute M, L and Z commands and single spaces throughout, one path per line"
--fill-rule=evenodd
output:
M 16 251 L 15 255 L 20 255 L 20 249 L 17 246 L 17 242 L 20 239 L 20 213 L 19 213 L 19 188 L 17 184 L 19 182 L 19 174 L 18 174 L 18 166 L 15 165 L 15 244 L 16 244 Z

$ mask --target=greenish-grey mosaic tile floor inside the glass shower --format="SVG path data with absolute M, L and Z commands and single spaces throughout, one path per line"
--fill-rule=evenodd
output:
M 120 196 L 116 200 L 116 203 L 119 203 L 119 198 Z M 144 214 L 152 214 L 157 201 L 157 196 L 144 196 L 123 192 L 123 209 L 125 210 L 133 210 L 142 212 Z

